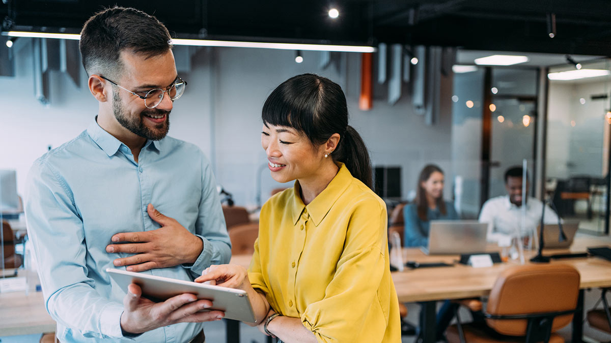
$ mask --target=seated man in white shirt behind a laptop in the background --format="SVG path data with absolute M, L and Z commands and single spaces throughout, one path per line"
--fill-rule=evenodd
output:
M 479 221 L 489 223 L 489 242 L 499 242 L 502 237 L 514 237 L 518 231 L 526 236 L 541 223 L 543 203 L 528 196 L 527 176 L 526 220 L 525 231 L 522 231 L 522 167 L 512 167 L 505 172 L 505 189 L 507 195 L 491 198 L 481 207 Z M 545 206 L 544 223 L 558 223 L 558 216 L 548 205 Z

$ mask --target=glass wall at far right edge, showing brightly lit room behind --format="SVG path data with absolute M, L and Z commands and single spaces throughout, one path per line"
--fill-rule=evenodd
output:
M 597 60 L 549 70 L 546 191 L 558 214 L 598 234 L 609 234 L 610 67 Z

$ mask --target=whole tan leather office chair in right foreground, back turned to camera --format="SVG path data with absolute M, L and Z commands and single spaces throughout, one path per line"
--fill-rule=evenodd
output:
M 486 325 L 452 325 L 448 342 L 562 343 L 554 331 L 573 319 L 579 272 L 564 264 L 527 264 L 504 270 L 486 306 Z M 456 313 L 458 315 L 458 312 Z M 529 337 L 526 337 L 526 336 Z

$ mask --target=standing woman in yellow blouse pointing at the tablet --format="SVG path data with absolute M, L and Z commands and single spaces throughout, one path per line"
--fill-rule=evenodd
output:
M 261 210 L 249 270 L 213 265 L 196 281 L 248 292 L 259 329 L 283 342 L 401 342 L 386 205 L 339 85 L 288 79 L 263 105 L 271 176 L 295 186 Z

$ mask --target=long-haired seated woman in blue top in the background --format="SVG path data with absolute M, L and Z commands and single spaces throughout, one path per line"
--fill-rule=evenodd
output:
M 414 203 L 403 209 L 406 247 L 428 247 L 430 220 L 456 220 L 458 214 L 450 201 L 444 201 L 444 171 L 434 164 L 426 165 L 418 178 Z

